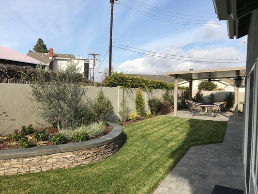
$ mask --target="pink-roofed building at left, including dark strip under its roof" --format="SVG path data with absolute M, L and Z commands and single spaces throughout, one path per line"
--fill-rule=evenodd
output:
M 31 58 L 16 50 L 0 46 L 0 64 L 2 65 L 20 65 L 36 67 L 37 64 L 46 65 L 39 60 Z M 47 65 L 46 65 L 47 66 Z

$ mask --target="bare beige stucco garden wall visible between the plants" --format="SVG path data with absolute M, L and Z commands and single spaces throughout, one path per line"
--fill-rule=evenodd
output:
M 93 101 L 100 89 L 103 90 L 104 95 L 110 99 L 114 107 L 114 114 L 107 118 L 108 121 L 115 122 L 120 118 L 118 110 L 123 98 L 127 99 L 130 111 L 135 112 L 134 100 L 137 89 L 87 86 L 86 95 L 88 100 Z M 0 116 L 0 135 L 10 134 L 14 129 L 28 124 L 32 124 L 35 128 L 49 126 L 44 120 L 37 117 L 37 112 L 39 110 L 33 108 L 37 107 L 37 104 L 31 102 L 28 98 L 30 97 L 30 92 L 31 89 L 29 84 L 0 83 L 0 113 L 5 112 L 4 114 L 8 115 Z M 148 99 L 150 97 L 162 97 L 163 93 L 164 91 L 160 89 L 152 90 L 150 92 L 143 91 L 146 109 L 148 109 Z

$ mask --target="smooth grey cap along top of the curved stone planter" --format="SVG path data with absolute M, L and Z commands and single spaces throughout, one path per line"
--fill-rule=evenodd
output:
M 88 149 L 97 146 L 103 146 L 114 142 L 122 135 L 122 127 L 115 123 L 108 123 L 113 129 L 110 133 L 96 139 L 70 143 L 70 144 L 61 144 L 56 146 L 42 146 L 42 147 L 29 147 L 29 148 L 19 148 L 19 149 L 5 149 L 0 150 L 0 160 L 6 159 L 16 159 L 16 158 L 28 158 L 34 156 L 56 154 L 68 151 L 77 151 L 81 149 Z

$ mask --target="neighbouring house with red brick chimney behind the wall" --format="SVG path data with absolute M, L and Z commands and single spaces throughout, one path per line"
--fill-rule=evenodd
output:
M 70 62 L 74 62 L 80 68 L 86 78 L 89 78 L 89 59 L 75 58 L 73 54 L 59 54 L 54 53 L 54 49 L 50 48 L 49 52 L 28 52 L 28 56 L 39 60 L 49 66 L 50 70 L 57 70 L 58 68 L 66 68 Z

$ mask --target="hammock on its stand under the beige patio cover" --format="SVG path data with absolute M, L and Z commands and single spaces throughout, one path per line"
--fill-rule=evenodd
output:
M 225 107 L 227 102 L 215 102 L 213 104 L 203 104 L 191 100 L 185 100 L 190 112 L 194 115 L 210 115 L 216 117 L 220 113 L 222 107 Z

